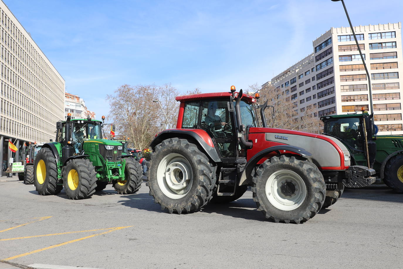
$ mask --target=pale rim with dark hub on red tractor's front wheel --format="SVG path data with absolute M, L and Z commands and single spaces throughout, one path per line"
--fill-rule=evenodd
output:
M 291 196 L 281 191 L 283 184 L 293 184 L 295 191 Z M 302 178 L 287 169 L 279 170 L 270 175 L 266 181 L 266 196 L 276 208 L 284 211 L 297 209 L 305 200 L 306 186 Z

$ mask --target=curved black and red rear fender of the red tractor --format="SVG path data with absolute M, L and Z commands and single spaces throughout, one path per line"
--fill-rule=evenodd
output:
M 150 147 L 154 150 L 155 146 L 160 144 L 163 140 L 177 137 L 196 140 L 197 144 L 202 147 L 210 159 L 216 163 L 221 162 L 221 158 L 218 156 L 210 135 L 202 129 L 169 129 L 162 131 L 154 138 Z

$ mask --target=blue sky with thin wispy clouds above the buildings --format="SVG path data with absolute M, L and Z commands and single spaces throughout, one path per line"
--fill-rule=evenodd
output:
M 341 2 L 3 0 L 97 118 L 122 84 L 180 91 L 263 84 L 347 26 Z M 402 21 L 403 1 L 345 0 L 353 25 Z

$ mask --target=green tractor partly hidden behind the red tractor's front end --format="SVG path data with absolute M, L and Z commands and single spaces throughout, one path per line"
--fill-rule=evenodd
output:
M 376 136 L 378 127 L 368 112 L 328 115 L 320 119 L 324 134 L 340 140 L 351 154 L 351 165 L 373 168 L 378 180 L 403 193 L 403 136 Z

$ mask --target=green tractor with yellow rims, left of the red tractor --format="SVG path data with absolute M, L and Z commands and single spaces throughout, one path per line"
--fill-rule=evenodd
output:
M 139 190 L 141 165 L 122 155 L 120 142 L 101 139 L 102 121 L 71 119 L 68 114 L 56 129 L 56 141 L 44 144 L 36 156 L 38 194 L 58 194 L 64 187 L 70 199 L 85 199 L 108 184 L 119 194 Z

